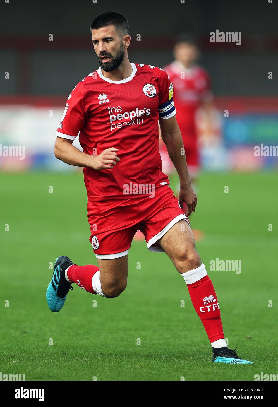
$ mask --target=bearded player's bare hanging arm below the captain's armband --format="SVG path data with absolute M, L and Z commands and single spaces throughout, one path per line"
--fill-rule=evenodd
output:
M 185 202 L 188 207 L 186 216 L 195 212 L 197 205 L 197 196 L 192 188 L 191 179 L 188 173 L 186 157 L 184 153 L 184 144 L 182 135 L 177 125 L 176 117 L 159 118 L 161 137 L 166 145 L 169 157 L 173 162 L 180 180 L 179 205 L 183 207 Z

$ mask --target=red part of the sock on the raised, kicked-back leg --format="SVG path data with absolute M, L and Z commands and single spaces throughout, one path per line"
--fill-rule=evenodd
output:
M 75 282 L 80 288 L 88 291 L 88 293 L 96 294 L 92 286 L 92 278 L 96 271 L 99 271 L 99 267 L 92 264 L 87 266 L 77 266 L 74 264 L 70 266 L 67 274 L 71 282 Z

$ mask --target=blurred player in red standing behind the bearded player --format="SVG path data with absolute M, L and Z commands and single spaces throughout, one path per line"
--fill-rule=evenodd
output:
M 173 99 L 177 110 L 177 123 L 182 133 L 188 171 L 196 190 L 196 178 L 200 166 L 198 148 L 198 124 L 196 114 L 199 108 L 205 112 L 206 132 L 212 132 L 213 96 L 208 72 L 196 61 L 199 48 L 190 35 L 181 35 L 173 48 L 175 60 L 163 69 L 168 73 L 174 88 Z M 203 118 L 204 118 L 203 116 Z M 173 169 L 166 148 L 161 142 L 160 153 L 166 173 Z M 176 191 L 178 193 L 178 190 Z M 187 208 L 184 207 L 184 211 Z M 200 234 L 195 230 L 195 237 Z

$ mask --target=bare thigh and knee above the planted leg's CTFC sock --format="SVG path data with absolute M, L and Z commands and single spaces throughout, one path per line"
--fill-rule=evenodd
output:
M 186 221 L 175 223 L 157 243 L 171 258 L 179 273 L 186 273 L 201 265 L 192 230 Z

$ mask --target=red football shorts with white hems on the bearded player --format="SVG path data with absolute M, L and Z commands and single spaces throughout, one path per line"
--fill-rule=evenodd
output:
M 156 188 L 154 197 L 88 201 L 90 242 L 100 259 L 125 256 L 138 229 L 151 252 L 164 252 L 156 242 L 181 219 L 190 225 L 168 185 Z

